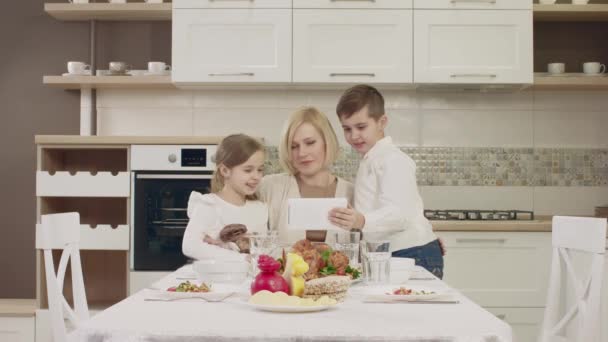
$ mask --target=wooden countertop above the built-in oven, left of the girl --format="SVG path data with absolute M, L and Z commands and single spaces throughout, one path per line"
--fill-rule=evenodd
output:
M 216 145 L 222 139 L 199 136 L 36 135 L 34 142 L 38 145 Z

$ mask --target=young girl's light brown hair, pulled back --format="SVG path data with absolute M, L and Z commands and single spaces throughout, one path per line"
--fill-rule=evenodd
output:
M 229 169 L 241 165 L 258 151 L 264 152 L 264 145 L 257 139 L 245 134 L 233 134 L 222 139 L 217 147 L 214 162 L 215 170 L 211 179 L 211 192 L 217 193 L 224 188 L 224 176 L 220 171 L 223 165 Z M 248 200 L 257 200 L 257 195 L 245 196 Z

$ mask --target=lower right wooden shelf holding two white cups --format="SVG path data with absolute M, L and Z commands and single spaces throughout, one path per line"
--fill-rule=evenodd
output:
M 546 73 L 534 74 L 535 90 L 603 90 L 608 89 L 608 76 L 584 76 L 565 74 L 547 76 Z

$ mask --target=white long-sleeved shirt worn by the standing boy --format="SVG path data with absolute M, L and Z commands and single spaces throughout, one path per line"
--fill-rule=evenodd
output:
M 391 250 L 426 245 L 437 237 L 424 217 L 416 163 L 384 137 L 363 156 L 355 180 L 355 209 L 365 232 L 391 241 Z

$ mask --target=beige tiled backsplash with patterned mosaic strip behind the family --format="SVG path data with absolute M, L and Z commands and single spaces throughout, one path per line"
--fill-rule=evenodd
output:
M 289 115 L 324 111 L 342 146 L 335 173 L 353 179 L 359 156 L 340 131 L 337 89 L 125 90 L 97 92 L 100 135 L 264 138 L 267 173 Z M 383 90 L 387 134 L 418 165 L 426 208 L 521 209 L 592 215 L 608 204 L 605 91 L 431 93 Z

